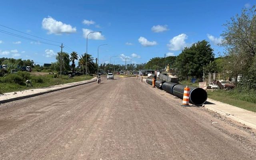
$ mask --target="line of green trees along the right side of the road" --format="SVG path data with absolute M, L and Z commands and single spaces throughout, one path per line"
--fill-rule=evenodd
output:
M 213 49 L 206 40 L 198 41 L 185 47 L 178 56 L 172 56 L 168 62 L 176 68 L 183 79 L 196 77 L 202 79 L 209 72 L 224 73 L 235 78 L 238 87 L 256 90 L 256 7 L 242 9 L 224 24 L 219 44 L 224 47 L 224 54 L 214 58 Z M 146 64 L 149 68 L 164 68 L 164 58 L 152 58 Z M 166 63 L 167 64 L 167 63 Z

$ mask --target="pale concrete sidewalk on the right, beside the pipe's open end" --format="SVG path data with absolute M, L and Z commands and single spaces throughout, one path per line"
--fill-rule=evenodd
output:
M 146 78 L 143 78 L 143 82 L 146 83 Z M 250 128 L 256 129 L 256 113 L 244 110 L 242 108 L 238 108 L 236 106 L 232 106 L 230 104 L 222 103 L 216 100 L 212 100 L 210 98 L 207 99 L 204 107 L 221 114 L 222 116 L 226 116 L 232 120 L 245 124 Z

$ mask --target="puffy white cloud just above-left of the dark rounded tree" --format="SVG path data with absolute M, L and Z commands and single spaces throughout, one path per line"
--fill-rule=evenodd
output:
M 188 39 L 188 36 L 182 33 L 172 38 L 167 46 L 169 47 L 169 50 L 172 51 L 182 50 L 185 46 L 188 46 L 185 42 L 186 39 Z

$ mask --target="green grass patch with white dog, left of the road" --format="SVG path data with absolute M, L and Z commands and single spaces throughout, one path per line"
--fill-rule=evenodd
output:
M 66 83 L 72 83 L 72 82 L 80 82 L 83 80 L 90 80 L 94 76 L 74 76 L 72 78 L 69 78 L 66 75 L 62 75 L 62 78 L 54 78 L 54 74 L 46 74 L 44 76 L 34 76 L 30 75 L 30 80 L 32 80 L 32 85 L 33 87 L 26 87 L 26 80 L 23 78 L 26 77 L 26 75 L 20 76 L 18 74 L 9 74 L 11 75 L 8 80 L 6 77 L 0 77 L 0 92 L 2 93 L 7 93 L 7 92 L 16 92 L 16 91 L 21 91 L 21 90 L 26 90 L 26 89 L 33 89 L 33 88 L 44 88 L 44 87 L 49 87 L 49 86 L 54 86 L 58 84 L 66 84 Z M 12 80 L 12 76 L 18 77 L 14 80 Z M 27 78 L 27 77 L 26 77 Z M 10 80 L 10 81 L 9 81 Z

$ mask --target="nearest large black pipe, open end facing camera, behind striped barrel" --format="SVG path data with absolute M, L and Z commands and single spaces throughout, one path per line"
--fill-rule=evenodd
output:
M 181 84 L 175 85 L 172 89 L 173 95 L 179 97 L 180 99 L 183 99 L 185 87 L 186 86 Z M 202 106 L 207 100 L 207 97 L 208 97 L 207 92 L 202 88 L 196 88 L 196 87 L 189 87 L 189 88 L 190 88 L 189 102 L 197 106 Z

